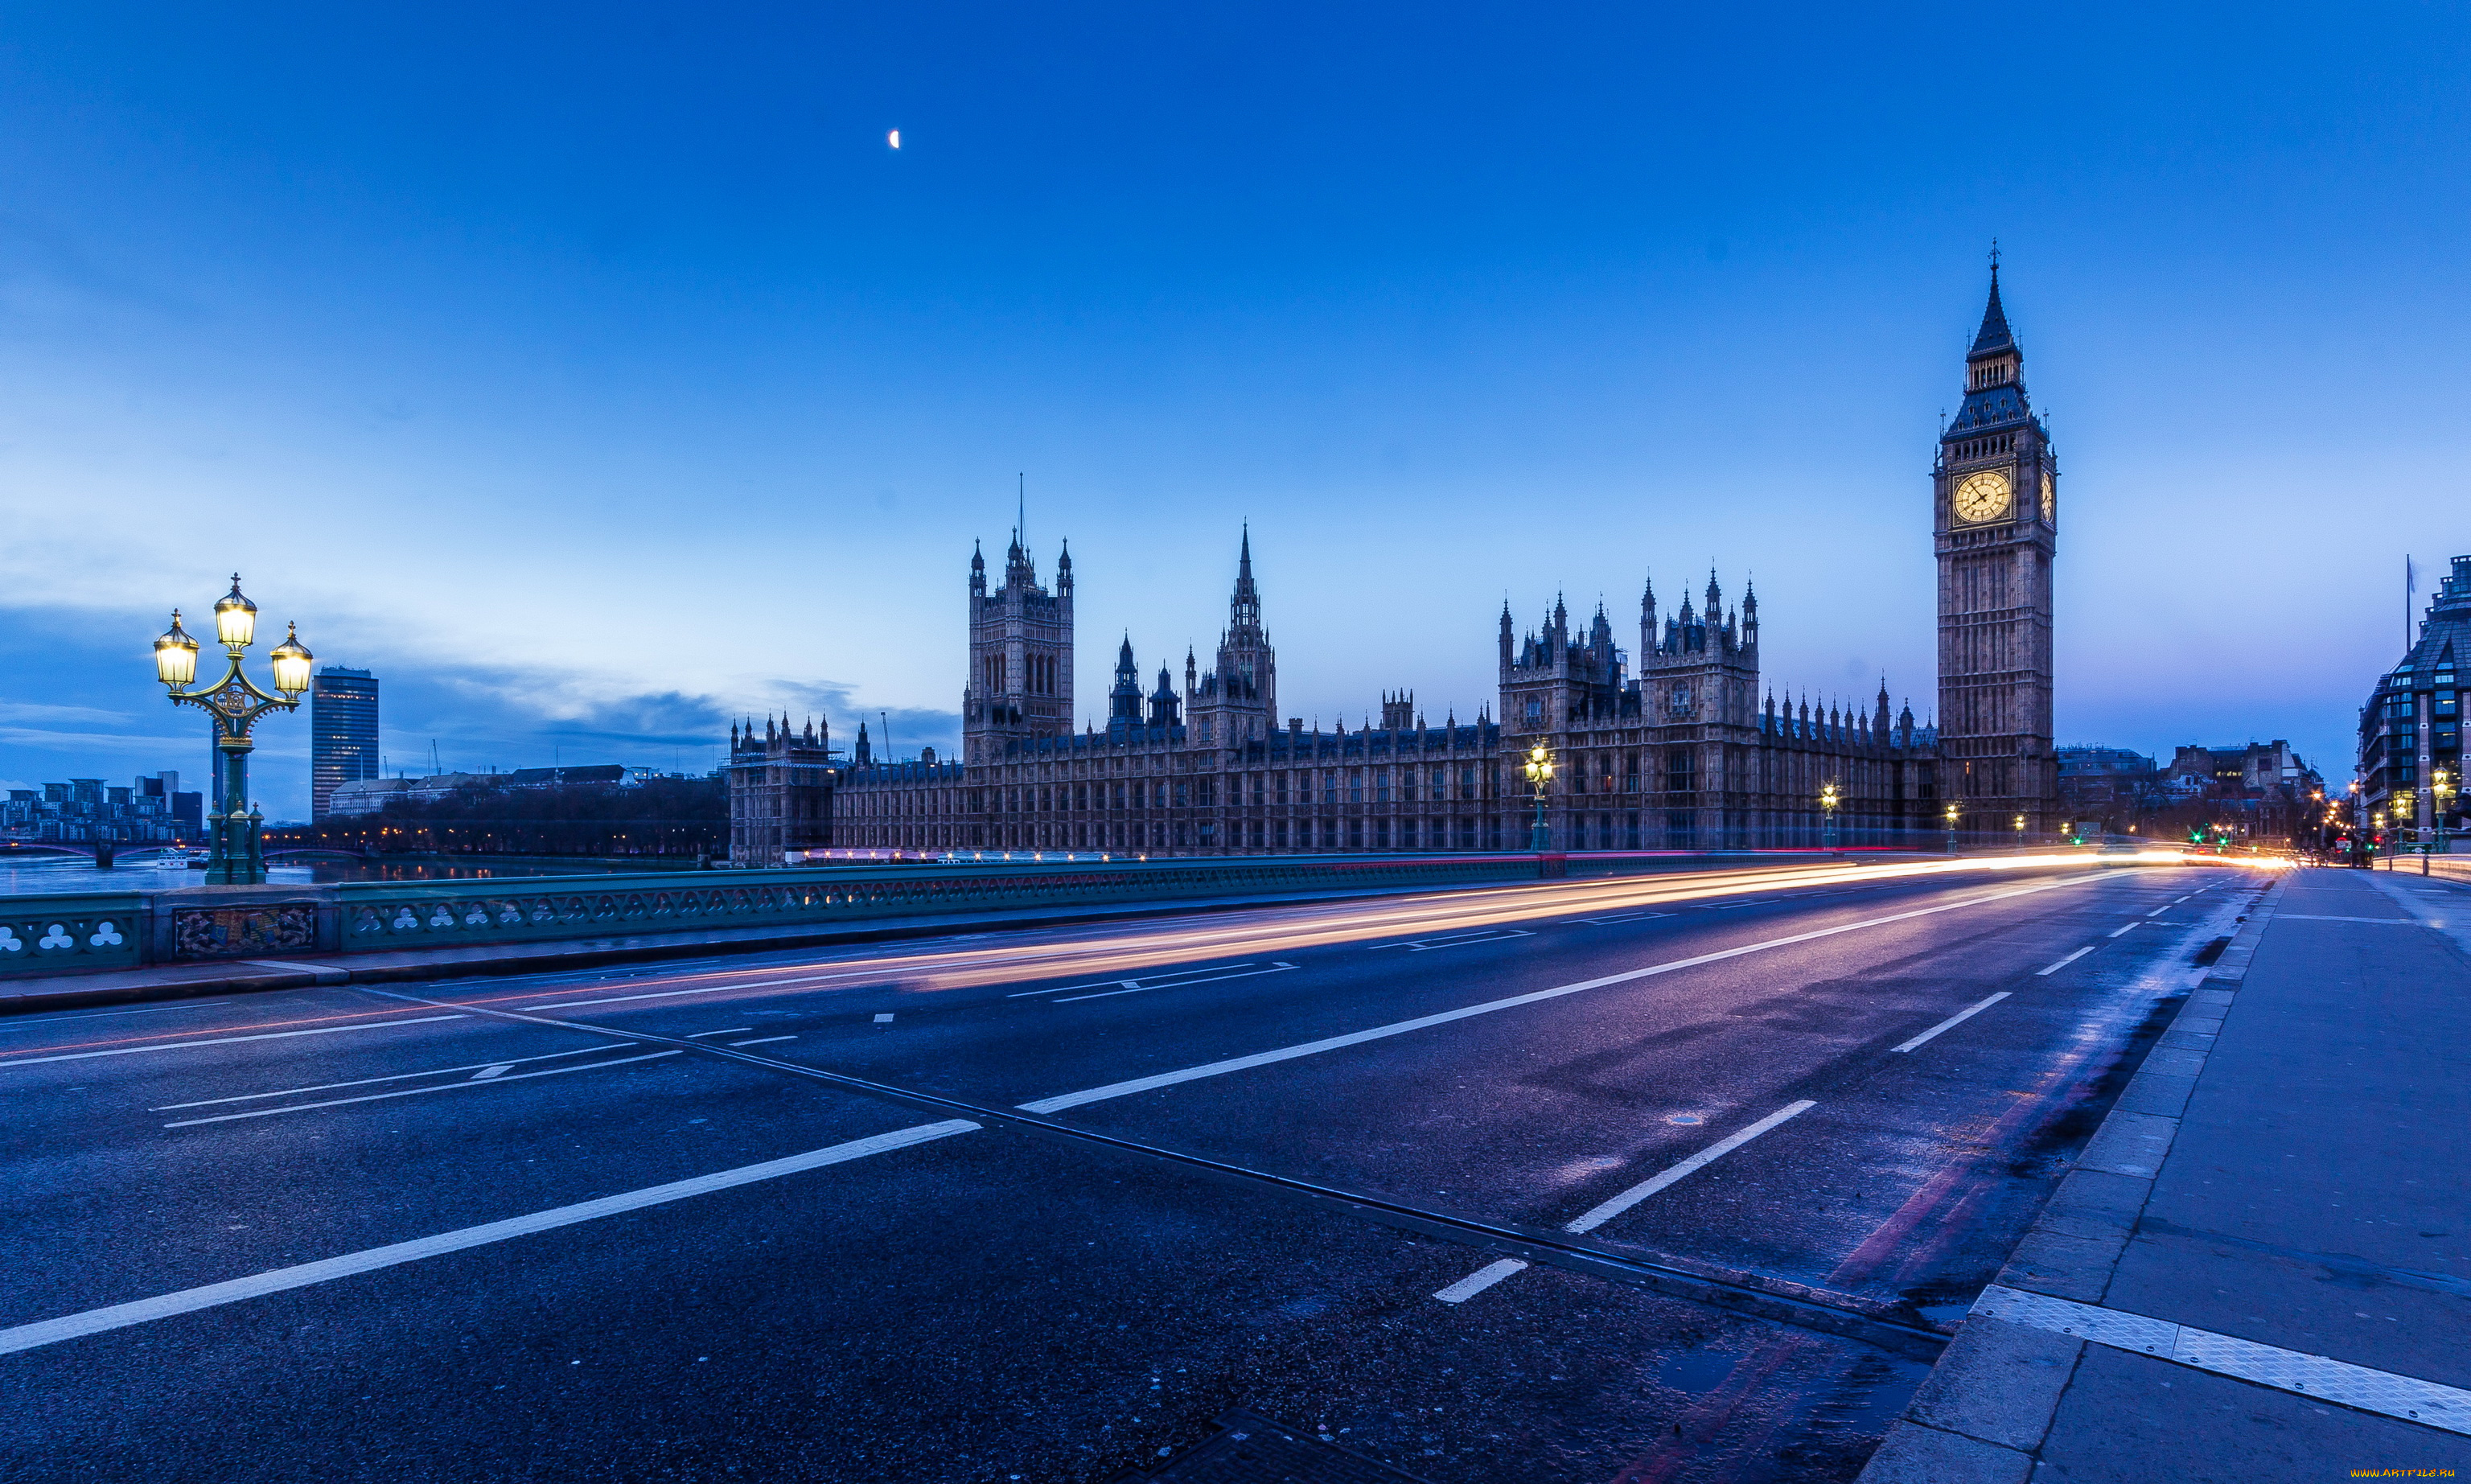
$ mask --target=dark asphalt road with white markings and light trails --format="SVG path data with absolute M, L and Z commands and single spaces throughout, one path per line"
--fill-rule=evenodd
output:
M 1248 1407 L 1448 1484 L 1848 1479 L 2256 886 L 1814 867 L 0 1020 L 0 1472 L 1105 1482 Z

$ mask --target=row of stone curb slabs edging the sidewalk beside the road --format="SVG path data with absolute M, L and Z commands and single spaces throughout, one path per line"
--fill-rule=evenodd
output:
M 2249 906 L 1994 1284 L 2103 1301 L 2278 891 L 2281 879 Z M 1987 1314 L 1964 1319 L 1856 1484 L 2024 1484 L 2086 1343 Z

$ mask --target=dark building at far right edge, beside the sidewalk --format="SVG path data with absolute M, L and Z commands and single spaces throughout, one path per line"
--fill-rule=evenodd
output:
M 2370 817 L 2387 827 L 2427 830 L 2436 817 L 2436 773 L 2461 790 L 2464 726 L 2461 672 L 2471 662 L 2471 556 L 2429 598 L 2419 640 L 2360 709 L 2360 790 Z M 2461 830 L 2461 793 L 2446 815 L 2446 832 Z

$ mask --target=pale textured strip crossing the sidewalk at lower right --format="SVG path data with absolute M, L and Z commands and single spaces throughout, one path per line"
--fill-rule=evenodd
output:
M 2261 1346 L 2189 1324 L 2147 1319 L 2125 1309 L 2098 1309 L 1999 1284 L 1982 1289 L 1972 1311 L 2076 1336 L 2132 1356 L 2152 1356 L 2187 1365 L 2189 1370 L 2212 1370 L 2214 1375 L 2229 1375 L 2271 1390 L 2288 1390 L 2382 1417 L 2419 1422 L 2422 1427 L 2471 1435 L 2471 1390 L 2419 1380 L 2417 1375 L 2372 1370 L 2350 1361 Z

